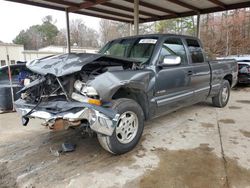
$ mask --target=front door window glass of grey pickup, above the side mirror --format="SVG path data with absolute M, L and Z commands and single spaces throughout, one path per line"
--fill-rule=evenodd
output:
M 160 53 L 160 62 L 163 61 L 165 56 L 174 55 L 181 58 L 181 64 L 187 62 L 187 55 L 184 48 L 184 45 L 179 38 L 168 38 L 162 45 Z

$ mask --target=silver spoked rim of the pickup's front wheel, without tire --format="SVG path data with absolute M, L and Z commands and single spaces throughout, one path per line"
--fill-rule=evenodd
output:
M 116 126 L 116 138 L 122 144 L 131 142 L 138 131 L 138 117 L 134 112 L 124 112 Z

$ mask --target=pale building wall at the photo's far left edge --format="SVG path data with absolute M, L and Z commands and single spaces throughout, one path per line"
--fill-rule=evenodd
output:
M 10 64 L 24 61 L 23 50 L 23 45 L 0 43 L 0 67 L 7 65 L 7 55 L 9 55 Z

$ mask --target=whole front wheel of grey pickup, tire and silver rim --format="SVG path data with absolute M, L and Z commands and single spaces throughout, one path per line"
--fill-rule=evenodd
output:
M 123 154 L 132 150 L 139 142 L 144 128 L 144 114 L 136 101 L 126 98 L 114 100 L 112 109 L 120 114 L 113 134 L 98 134 L 97 137 L 105 150 Z

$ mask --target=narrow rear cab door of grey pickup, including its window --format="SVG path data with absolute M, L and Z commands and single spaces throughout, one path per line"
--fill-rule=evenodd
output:
M 205 60 L 200 42 L 194 38 L 187 38 L 189 62 L 193 67 L 191 87 L 194 90 L 194 102 L 200 102 L 207 98 L 210 91 L 210 67 Z

